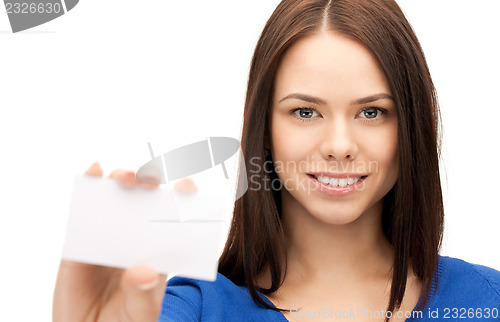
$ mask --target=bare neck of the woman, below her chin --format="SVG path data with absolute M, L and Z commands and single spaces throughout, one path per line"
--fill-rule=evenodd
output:
M 394 255 L 382 230 L 383 200 L 353 222 L 336 225 L 318 220 L 291 195 L 282 197 L 289 280 L 390 279 Z

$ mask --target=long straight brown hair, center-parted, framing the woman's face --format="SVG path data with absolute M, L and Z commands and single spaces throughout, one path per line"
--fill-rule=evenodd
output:
M 369 48 L 390 85 L 398 115 L 400 166 L 396 184 L 384 197 L 381 222 L 395 250 L 387 311 L 401 306 L 410 257 L 424 285 L 425 300 L 419 302 L 422 309 L 433 288 L 443 234 L 441 123 L 421 46 L 392 0 L 284 0 L 273 12 L 252 58 L 245 102 L 241 147 L 251 178 L 246 194 L 235 203 L 218 271 L 235 284 L 245 285 L 256 303 L 275 309 L 257 293 L 276 291 L 286 273 L 279 260 L 286 249 L 280 194 L 262 188 L 265 181 L 279 180 L 272 166 L 269 169 L 267 161 L 272 159 L 265 152 L 273 85 L 287 49 L 325 29 Z M 264 289 L 256 281 L 266 268 L 272 283 Z

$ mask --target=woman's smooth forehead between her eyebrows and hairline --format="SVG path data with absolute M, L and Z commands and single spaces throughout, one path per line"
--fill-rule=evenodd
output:
M 373 53 L 346 36 L 322 31 L 295 43 L 285 54 L 275 81 L 275 102 L 291 92 L 342 103 L 390 88 Z

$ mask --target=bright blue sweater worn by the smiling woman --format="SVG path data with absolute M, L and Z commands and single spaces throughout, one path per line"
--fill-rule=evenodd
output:
M 428 305 L 422 311 L 414 309 L 411 312 L 413 318 L 408 318 L 406 321 L 500 321 L 499 271 L 460 259 L 440 256 L 436 275 L 439 280 L 438 287 L 436 288 L 433 283 Z M 272 305 L 263 294 L 261 296 Z M 295 314 L 297 318 L 302 317 L 300 320 L 310 320 L 307 319 L 307 315 L 300 316 L 299 313 Z M 314 311 L 309 311 L 309 314 L 314 314 Z M 324 320 L 349 320 L 354 319 L 356 314 L 358 318 L 368 317 L 367 312 L 349 313 L 326 309 L 317 311 L 316 314 L 318 315 L 315 315 L 315 318 Z M 342 318 L 339 314 L 351 315 Z M 171 278 L 168 281 L 158 321 L 288 320 L 279 311 L 255 304 L 247 288 L 235 285 L 218 273 L 217 279 L 213 282 L 178 276 Z

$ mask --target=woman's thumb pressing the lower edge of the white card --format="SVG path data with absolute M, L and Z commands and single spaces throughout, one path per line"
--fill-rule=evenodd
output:
M 165 294 L 167 276 L 145 266 L 125 270 L 120 284 L 124 296 L 124 309 L 131 321 L 158 320 Z

